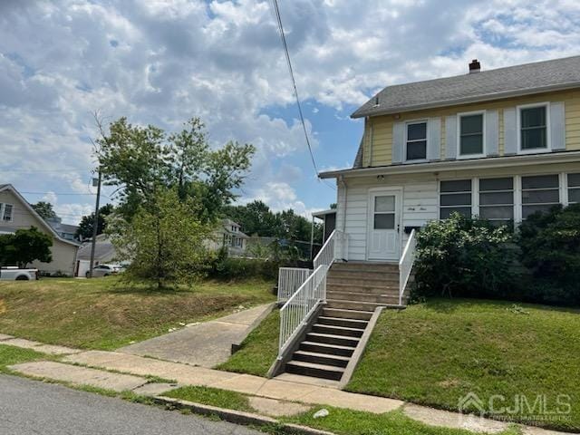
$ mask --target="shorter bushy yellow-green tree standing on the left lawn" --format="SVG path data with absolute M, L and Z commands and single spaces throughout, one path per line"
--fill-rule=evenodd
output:
M 127 274 L 153 279 L 158 288 L 190 281 L 204 272 L 211 230 L 198 217 L 198 205 L 179 199 L 177 189 L 160 189 L 147 207 L 139 207 L 128 223 L 111 218 L 111 239 L 121 259 L 131 260 Z

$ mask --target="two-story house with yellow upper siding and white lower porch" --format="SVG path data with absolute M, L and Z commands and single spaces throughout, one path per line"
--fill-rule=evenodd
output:
M 336 179 L 346 259 L 397 262 L 413 228 L 453 211 L 518 223 L 580 202 L 580 56 L 393 85 L 355 111 Z

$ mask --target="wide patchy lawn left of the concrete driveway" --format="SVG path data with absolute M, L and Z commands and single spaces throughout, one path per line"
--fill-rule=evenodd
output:
M 0 283 L 0 333 L 73 347 L 112 350 L 275 300 L 272 283 L 208 281 L 179 290 L 128 285 L 120 277 Z

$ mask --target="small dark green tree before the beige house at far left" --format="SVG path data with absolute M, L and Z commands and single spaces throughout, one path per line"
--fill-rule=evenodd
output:
M 34 260 L 53 261 L 51 247 L 53 237 L 39 231 L 37 227 L 17 229 L 14 234 L 0 236 L 0 263 L 25 268 Z

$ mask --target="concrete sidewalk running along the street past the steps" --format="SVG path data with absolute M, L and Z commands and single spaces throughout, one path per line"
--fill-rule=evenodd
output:
M 11 338 L 2 340 L 0 338 L 0 343 L 19 347 L 37 349 L 36 346 L 42 346 L 40 343 L 26 342 L 26 340 L 14 340 Z M 34 344 L 31 345 L 30 343 Z M 340 391 L 324 386 L 266 379 L 248 374 L 221 372 L 205 367 L 194 367 L 179 362 L 160 361 L 127 353 L 104 351 L 82 352 L 76 349 L 71 349 L 70 351 L 71 354 L 63 357 L 63 362 L 26 362 L 11 368 L 16 372 L 22 372 L 30 376 L 90 385 L 95 385 L 94 382 L 99 382 L 99 370 L 95 369 L 127 373 L 102 372 L 103 382 L 107 382 L 108 388 L 116 391 L 127 390 L 125 386 L 127 384 L 133 386 L 133 383 L 135 388 L 132 390 L 143 394 L 147 394 L 146 391 L 148 389 L 150 389 L 150 394 L 160 394 L 163 392 L 160 390 L 167 391 L 176 387 L 175 385 L 168 384 L 147 383 L 146 376 L 157 376 L 175 380 L 179 385 L 200 385 L 220 388 L 276 401 L 297 401 L 310 405 L 329 405 L 374 413 L 402 409 L 411 419 L 419 420 L 432 426 L 485 431 L 488 433 L 498 433 L 499 431 L 507 430 L 509 427 L 508 423 L 502 421 L 479 419 L 478 417 L 469 417 L 455 412 L 440 411 L 403 401 Z M 58 354 L 62 355 L 62 352 Z M 92 369 L 69 365 L 72 363 L 86 365 L 92 367 Z M 84 374 L 85 382 L 82 379 L 82 372 L 79 371 L 87 371 Z M 114 375 L 123 377 L 122 379 L 119 378 L 119 382 L 125 383 L 120 386 L 115 385 Z M 128 378 L 127 376 L 131 377 Z M 525 426 L 522 426 L 522 430 L 526 435 L 556 435 L 563 433 Z

